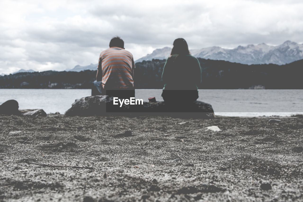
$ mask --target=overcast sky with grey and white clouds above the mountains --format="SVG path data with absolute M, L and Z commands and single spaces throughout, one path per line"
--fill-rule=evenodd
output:
M 134 59 L 182 37 L 190 49 L 303 43 L 303 1 L 1 0 L 0 74 L 98 62 L 113 36 Z

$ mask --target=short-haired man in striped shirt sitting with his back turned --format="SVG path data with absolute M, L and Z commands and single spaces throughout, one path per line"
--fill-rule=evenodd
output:
M 132 53 L 124 49 L 124 41 L 120 37 L 114 37 L 109 49 L 102 51 L 99 56 L 94 85 L 101 95 L 128 99 L 135 97 L 134 69 Z

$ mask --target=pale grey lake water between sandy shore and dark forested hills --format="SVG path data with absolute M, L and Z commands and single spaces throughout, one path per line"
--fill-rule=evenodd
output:
M 135 93 L 136 99 L 163 101 L 161 89 L 138 89 Z M 19 109 L 64 114 L 75 99 L 90 95 L 90 89 L 0 89 L 0 104 L 15 99 Z M 198 100 L 210 103 L 217 116 L 303 114 L 303 90 L 199 90 Z

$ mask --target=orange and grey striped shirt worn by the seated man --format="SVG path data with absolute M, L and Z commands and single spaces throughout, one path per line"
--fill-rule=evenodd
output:
M 129 51 L 119 47 L 102 51 L 98 69 L 102 69 L 103 88 L 133 88 L 134 68 L 135 62 Z

